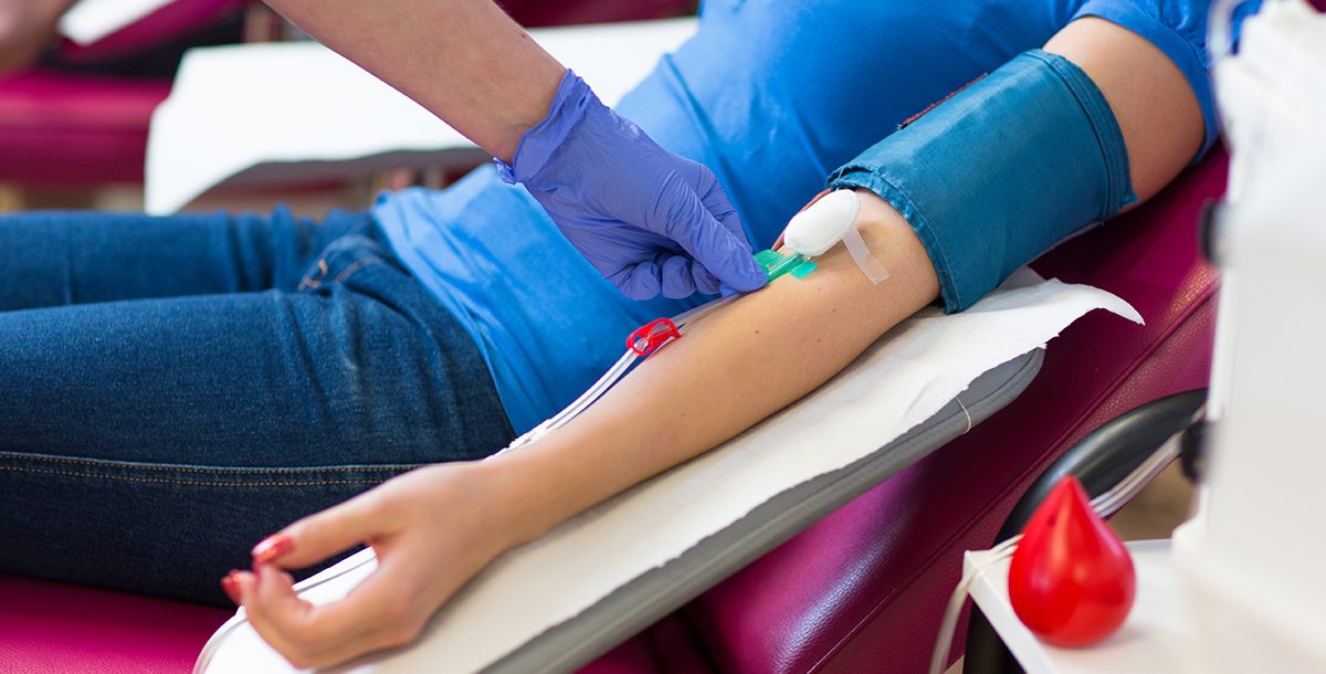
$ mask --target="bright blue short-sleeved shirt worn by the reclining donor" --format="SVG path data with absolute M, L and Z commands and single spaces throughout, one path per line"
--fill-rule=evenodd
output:
M 662 146 L 712 168 L 756 249 L 825 178 L 899 123 L 1074 19 L 1146 37 L 1217 121 L 1207 0 L 711 0 L 696 36 L 618 106 Z M 593 82 L 591 82 L 593 84 Z M 625 299 L 520 187 L 484 167 L 444 191 L 379 199 L 377 222 L 465 326 L 524 433 L 602 374 L 636 326 L 703 301 Z

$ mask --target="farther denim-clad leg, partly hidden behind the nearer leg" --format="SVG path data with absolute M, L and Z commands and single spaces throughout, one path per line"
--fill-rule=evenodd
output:
M 367 222 L 271 215 L 25 212 L 0 216 L 0 312 L 294 289 L 329 241 Z

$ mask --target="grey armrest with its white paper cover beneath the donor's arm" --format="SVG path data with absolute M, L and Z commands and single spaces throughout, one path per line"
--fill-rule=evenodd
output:
M 500 556 L 414 646 L 337 671 L 570 671 L 1006 405 L 1094 309 L 1142 322 L 1114 295 L 1029 269 L 963 313 L 927 308 L 745 434 Z M 361 552 L 300 588 L 332 601 L 373 568 Z M 196 671 L 292 671 L 243 616 Z

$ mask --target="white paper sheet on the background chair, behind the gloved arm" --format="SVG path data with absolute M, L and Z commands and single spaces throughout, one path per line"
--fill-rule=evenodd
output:
M 693 19 L 530 32 L 607 105 L 693 33 Z M 481 159 L 446 122 L 321 45 L 195 49 L 152 115 L 146 210 L 175 212 L 228 180 L 343 178 L 422 163 L 402 153 L 431 153 L 426 163 L 443 166 L 457 153 L 471 166 Z

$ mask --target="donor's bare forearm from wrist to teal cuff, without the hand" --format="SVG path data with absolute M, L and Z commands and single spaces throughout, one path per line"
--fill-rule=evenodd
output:
M 939 284 L 911 227 L 862 192 L 862 234 L 891 272 L 871 285 L 842 247 L 805 279 L 784 277 L 697 321 L 585 414 L 524 450 L 487 462 L 528 506 L 528 540 L 682 463 L 814 390 Z

